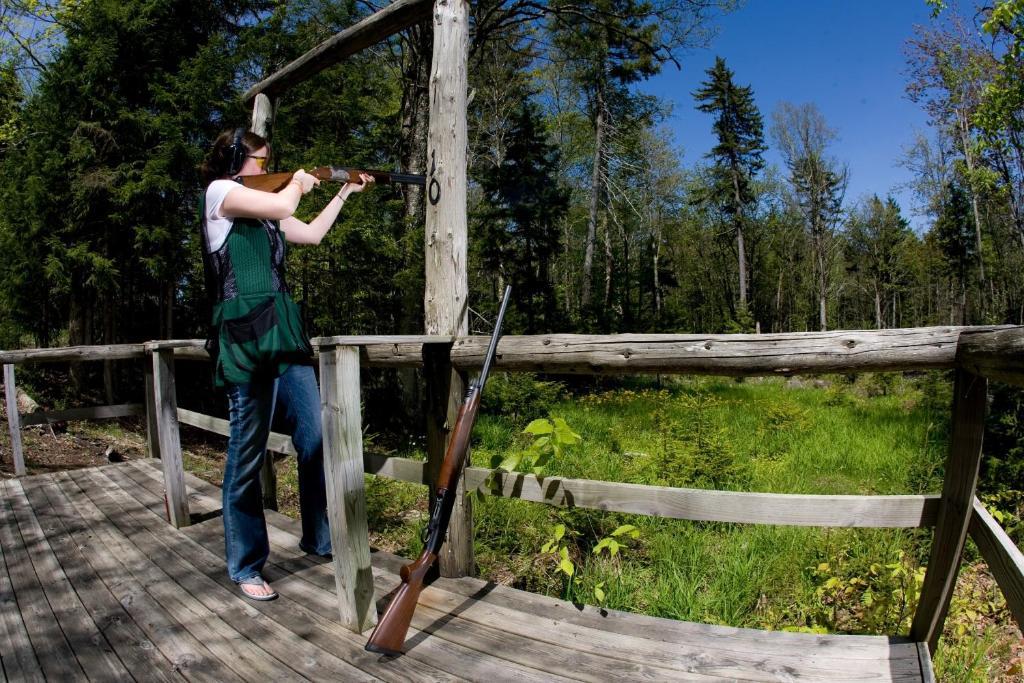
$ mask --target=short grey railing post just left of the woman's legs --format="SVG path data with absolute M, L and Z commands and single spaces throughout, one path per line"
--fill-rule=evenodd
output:
M 181 440 L 178 435 L 178 400 L 174 388 L 174 349 L 153 351 L 153 401 L 157 415 L 157 440 L 164 470 L 164 504 L 167 521 L 181 528 L 190 523 L 185 496 Z

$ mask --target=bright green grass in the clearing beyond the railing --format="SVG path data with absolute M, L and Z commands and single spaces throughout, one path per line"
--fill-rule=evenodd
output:
M 898 376 L 855 384 L 838 377 L 828 384 L 637 381 L 549 399 L 541 413 L 530 412 L 529 392 L 517 386 L 520 404 L 506 401 L 504 415 L 478 419 L 472 463 L 489 467 L 525 447 L 530 438 L 522 428 L 550 415 L 566 420 L 583 441 L 553 460 L 547 475 L 784 494 L 941 489 L 948 402 L 929 393 L 934 381 L 927 390 Z M 906 635 L 930 539 L 920 530 L 689 522 L 490 497 L 474 505 L 484 578 L 591 604 L 600 584 L 610 608 L 776 630 Z M 639 539 L 615 557 L 592 554 L 600 539 L 627 523 L 639 528 Z M 554 554 L 541 553 L 555 524 L 567 529 L 574 581 L 558 570 Z M 391 527 L 392 537 L 400 536 L 397 529 Z M 1006 649 L 1006 634 L 981 632 L 991 642 L 947 636 L 954 644 L 937 659 L 942 680 L 989 676 L 986 657 Z

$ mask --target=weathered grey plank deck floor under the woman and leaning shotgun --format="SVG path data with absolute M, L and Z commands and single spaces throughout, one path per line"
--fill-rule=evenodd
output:
M 0 480 L 0 680 L 932 681 L 905 639 L 768 633 L 578 609 L 475 579 L 424 591 L 395 658 L 338 623 L 330 564 L 267 513 L 272 602 L 239 595 L 219 489 L 165 521 L 155 461 Z M 197 514 L 198 513 L 198 514 Z M 374 553 L 378 608 L 401 558 Z

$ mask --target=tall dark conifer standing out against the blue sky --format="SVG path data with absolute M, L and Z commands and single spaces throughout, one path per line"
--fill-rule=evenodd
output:
M 754 103 L 751 87 L 733 83 L 733 73 L 722 57 L 716 57 L 715 66 L 708 70 L 708 77 L 709 80 L 693 93 L 693 97 L 699 102 L 698 110 L 716 115 L 718 144 L 706 155 L 715 160 L 712 199 L 721 204 L 733 221 L 739 270 L 739 307 L 745 311 L 748 271 L 743 226 L 749 207 L 757 201 L 752 180 L 764 167 L 761 155 L 767 147 L 761 113 Z

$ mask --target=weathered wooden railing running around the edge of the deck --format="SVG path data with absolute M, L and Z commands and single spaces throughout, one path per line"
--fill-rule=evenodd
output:
M 314 340 L 321 370 L 329 514 L 342 621 L 361 631 L 376 620 L 369 577 L 362 473 L 429 484 L 443 456 L 446 373 L 482 362 L 486 339 L 465 337 L 324 337 Z M 528 474 L 505 474 L 485 486 L 489 470 L 469 467 L 464 490 L 564 507 L 674 519 L 802 526 L 934 527 L 931 557 L 910 636 L 934 651 L 959 569 L 968 533 L 991 567 L 1011 612 L 1024 623 L 1024 555 L 975 498 L 984 431 L 987 380 L 1024 386 L 1024 328 L 909 330 L 778 335 L 541 335 L 504 337 L 497 370 L 575 374 L 680 373 L 724 376 L 954 370 L 952 434 L 943 489 L 929 496 L 809 496 L 646 486 Z M 179 340 L 115 347 L 0 351 L 8 395 L 13 365 L 151 356 L 145 405 L 151 453 L 162 456 L 168 517 L 188 523 L 178 423 L 227 434 L 227 422 L 177 408 L 175 359 L 208 359 L 202 342 Z M 440 431 L 426 463 L 362 453 L 359 367 L 426 367 L 429 420 Z M 9 374 L 9 377 L 8 377 Z M 439 388 L 440 387 L 440 388 Z M 8 407 L 12 405 L 8 399 Z M 9 410 L 9 409 L 8 409 Z M 86 414 L 81 414 L 85 416 Z M 96 417 L 89 414 L 88 417 Z M 12 441 L 18 416 L 9 416 Z M 271 434 L 268 449 L 293 453 L 290 438 Z M 22 471 L 24 472 L 24 466 Z M 461 533 L 471 549 L 472 508 Z M 466 541 L 468 539 L 468 541 Z M 470 550 L 471 552 L 471 550 Z M 470 565 L 463 566 L 468 571 Z

